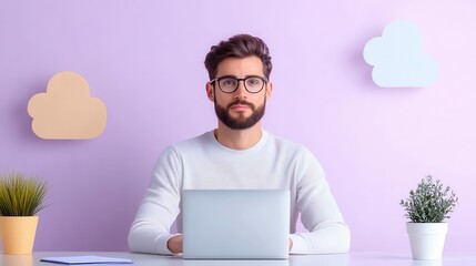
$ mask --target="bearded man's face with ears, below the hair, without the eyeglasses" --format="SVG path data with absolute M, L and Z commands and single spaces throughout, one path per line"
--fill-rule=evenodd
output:
M 219 63 L 216 78 L 234 76 L 245 79 L 247 76 L 262 76 L 263 63 L 257 57 L 243 59 L 227 58 Z M 272 84 L 265 83 L 259 93 L 246 91 L 244 81 L 239 82 L 239 88 L 232 93 L 220 90 L 217 82 L 207 84 L 207 95 L 215 104 L 215 113 L 219 120 L 232 130 L 245 130 L 261 121 L 264 115 L 266 99 L 271 96 Z

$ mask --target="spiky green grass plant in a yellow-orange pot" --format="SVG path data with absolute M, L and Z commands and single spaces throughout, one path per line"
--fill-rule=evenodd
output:
M 36 214 L 45 207 L 47 183 L 22 173 L 0 173 L 0 237 L 3 254 L 31 254 L 38 226 Z

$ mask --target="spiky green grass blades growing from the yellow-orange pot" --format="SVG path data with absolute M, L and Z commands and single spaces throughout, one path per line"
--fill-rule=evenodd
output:
M 0 174 L 0 216 L 33 216 L 45 207 L 47 182 L 12 172 Z

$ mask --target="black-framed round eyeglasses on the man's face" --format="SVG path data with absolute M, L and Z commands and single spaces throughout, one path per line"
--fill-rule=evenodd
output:
M 240 81 L 243 81 L 244 89 L 250 93 L 259 93 L 263 90 L 266 79 L 259 75 L 250 75 L 244 79 L 236 79 L 234 76 L 225 75 L 210 81 L 210 83 L 219 83 L 219 88 L 224 93 L 232 93 L 240 86 Z

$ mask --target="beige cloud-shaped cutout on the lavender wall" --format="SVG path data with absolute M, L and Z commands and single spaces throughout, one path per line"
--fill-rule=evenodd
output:
M 105 129 L 107 108 L 90 95 L 88 82 L 78 73 L 63 71 L 48 82 L 47 92 L 28 102 L 31 127 L 47 140 L 91 140 Z

